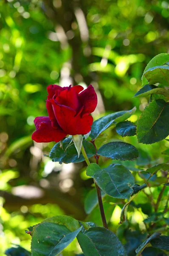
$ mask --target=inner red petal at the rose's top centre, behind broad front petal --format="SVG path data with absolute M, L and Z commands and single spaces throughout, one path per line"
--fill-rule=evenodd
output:
M 67 90 L 62 90 L 59 93 L 56 100 L 60 105 L 65 105 L 77 111 L 81 107 L 81 103 L 78 101 L 78 94 L 82 90 L 83 87 L 81 85 L 68 87 Z

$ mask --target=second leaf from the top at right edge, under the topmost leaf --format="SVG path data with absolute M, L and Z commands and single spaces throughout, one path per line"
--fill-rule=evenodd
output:
M 160 83 L 163 86 L 169 86 L 169 67 L 156 66 L 149 68 L 143 76 L 149 81 L 149 84 Z

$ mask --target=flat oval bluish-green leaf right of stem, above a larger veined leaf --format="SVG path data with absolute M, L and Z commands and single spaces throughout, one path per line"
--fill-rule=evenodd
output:
M 138 157 L 138 150 L 129 143 L 110 142 L 99 148 L 97 154 L 117 160 L 134 160 Z

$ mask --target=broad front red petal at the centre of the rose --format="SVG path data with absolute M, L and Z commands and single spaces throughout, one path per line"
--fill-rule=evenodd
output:
M 76 111 L 72 108 L 59 105 L 54 99 L 51 100 L 51 103 L 57 122 L 66 134 L 87 134 L 91 130 L 92 116 L 82 117 L 81 114 L 76 116 Z

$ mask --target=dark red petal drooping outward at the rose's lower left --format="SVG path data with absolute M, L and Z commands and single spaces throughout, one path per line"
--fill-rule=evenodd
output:
M 36 142 L 59 142 L 67 135 L 61 128 L 54 129 L 48 116 L 36 117 L 34 124 L 37 131 L 32 134 L 32 140 Z

